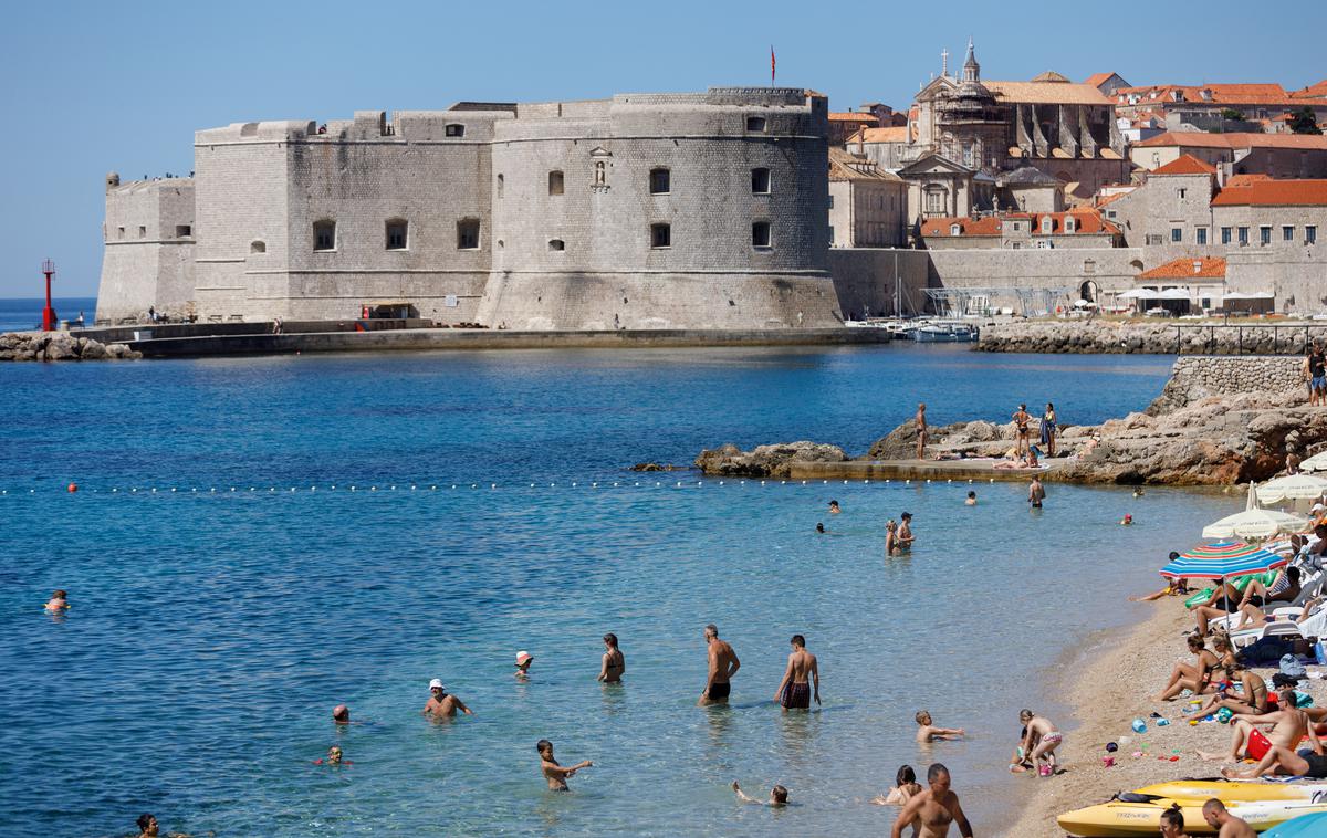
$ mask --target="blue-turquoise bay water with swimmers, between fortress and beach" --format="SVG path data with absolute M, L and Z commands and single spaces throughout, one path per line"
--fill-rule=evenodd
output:
M 35 420 L 0 428 L 0 834 L 123 834 L 139 811 L 224 835 L 878 834 L 890 810 L 865 801 L 934 758 L 990 823 L 1018 708 L 1054 707 L 1039 670 L 1135 614 L 1120 591 L 1234 501 L 1051 487 L 1032 516 L 1016 484 L 967 508 L 967 484 L 622 467 L 722 442 L 860 451 L 918 398 L 936 423 L 1047 399 L 1097 422 L 1168 369 L 953 347 L 5 367 Z M 918 546 L 886 560 L 904 509 Z M 57 586 L 64 619 L 40 607 Z M 729 708 L 694 707 L 707 622 L 743 662 Z M 620 687 L 594 683 L 604 631 Z M 784 716 L 794 632 L 824 707 Z M 435 676 L 476 715 L 422 719 Z M 370 724 L 337 731 L 341 701 Z M 973 737 L 920 749 L 920 707 Z M 594 761 L 572 794 L 544 790 L 540 737 Z M 332 744 L 352 766 L 311 764 Z M 734 778 L 799 805 L 738 806 Z

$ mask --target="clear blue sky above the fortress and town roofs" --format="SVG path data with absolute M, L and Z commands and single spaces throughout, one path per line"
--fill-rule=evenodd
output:
M 188 174 L 196 129 L 778 82 L 906 107 L 971 34 L 986 78 L 1327 77 L 1327 4 L 15 3 L 0 27 L 0 297 L 96 293 L 102 178 Z M 951 58 L 951 61 L 954 61 Z M 206 235 L 206 231 L 200 231 Z

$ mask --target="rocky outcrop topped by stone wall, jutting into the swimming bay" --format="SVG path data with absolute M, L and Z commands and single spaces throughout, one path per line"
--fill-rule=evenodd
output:
M 916 457 L 908 420 L 856 457 L 837 446 L 798 442 L 702 451 L 707 475 L 784 479 L 995 477 L 1096 484 L 1231 485 L 1265 480 L 1286 455 L 1327 443 L 1327 408 L 1304 404 L 1296 358 L 1180 358 L 1145 412 L 1100 426 L 1062 426 L 1059 453 L 1042 472 L 997 468 L 1014 447 L 1014 424 L 957 422 L 929 428 Z

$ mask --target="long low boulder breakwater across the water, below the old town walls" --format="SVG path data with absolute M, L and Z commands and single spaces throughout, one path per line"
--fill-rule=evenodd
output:
M 982 326 L 975 349 L 990 353 L 1278 355 L 1327 345 L 1327 324 L 1022 321 Z

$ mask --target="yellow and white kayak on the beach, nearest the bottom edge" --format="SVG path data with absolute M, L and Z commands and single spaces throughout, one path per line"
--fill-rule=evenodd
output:
M 1156 835 L 1161 826 L 1161 813 L 1178 804 L 1184 813 L 1184 831 L 1190 835 L 1212 835 L 1217 830 L 1202 818 L 1198 800 L 1157 798 L 1149 802 L 1128 804 L 1111 801 L 1067 811 L 1058 818 L 1060 829 L 1071 835 L 1095 838 L 1099 835 Z M 1302 814 L 1327 811 L 1327 804 L 1307 800 L 1233 801 L 1226 805 L 1231 814 L 1243 818 L 1249 826 L 1262 831 Z

